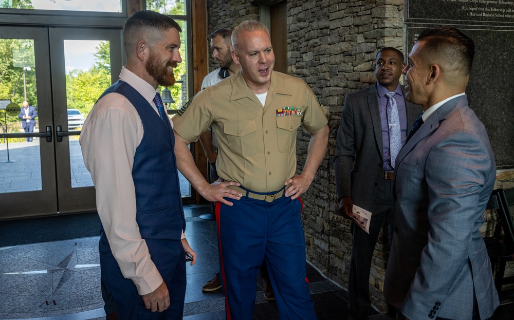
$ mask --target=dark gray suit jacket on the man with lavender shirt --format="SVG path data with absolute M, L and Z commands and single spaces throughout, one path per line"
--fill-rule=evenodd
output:
M 403 87 L 401 89 L 403 91 Z M 421 107 L 408 101 L 405 103 L 407 130 L 410 130 L 421 114 Z M 381 212 L 385 205 L 390 205 L 390 201 L 384 204 L 377 200 L 391 198 L 390 188 L 382 187 L 386 183 L 389 185 L 389 181 L 381 178 L 382 159 L 382 123 L 375 84 L 348 93 L 344 99 L 334 155 L 338 199 L 350 196 L 354 204 L 372 213 Z M 378 196 L 378 193 L 388 194 Z

